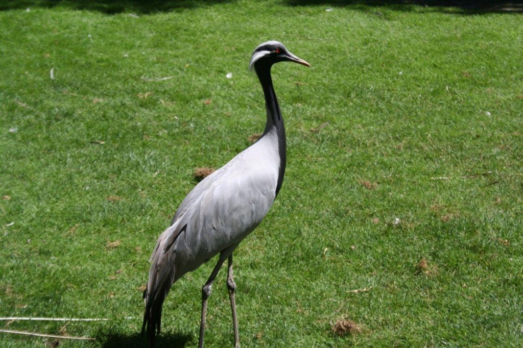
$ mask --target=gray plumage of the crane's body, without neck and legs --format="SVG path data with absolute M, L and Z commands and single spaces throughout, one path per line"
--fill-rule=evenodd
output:
M 276 198 L 276 130 L 203 179 L 179 206 L 151 256 L 148 289 L 167 294 L 185 273 L 240 242 Z

